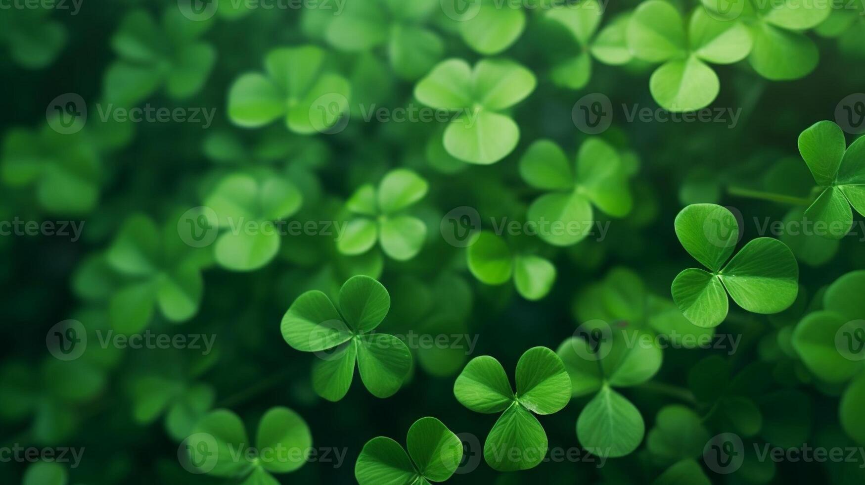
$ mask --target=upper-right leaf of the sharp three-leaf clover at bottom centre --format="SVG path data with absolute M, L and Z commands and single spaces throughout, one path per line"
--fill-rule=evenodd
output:
M 553 414 L 571 400 L 571 378 L 555 352 L 533 347 L 516 364 L 516 398 L 529 411 Z

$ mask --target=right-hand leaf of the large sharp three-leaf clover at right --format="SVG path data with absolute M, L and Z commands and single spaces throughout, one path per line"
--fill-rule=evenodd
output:
M 796 301 L 799 267 L 785 243 L 759 237 L 721 270 L 721 282 L 733 300 L 755 314 L 777 314 Z

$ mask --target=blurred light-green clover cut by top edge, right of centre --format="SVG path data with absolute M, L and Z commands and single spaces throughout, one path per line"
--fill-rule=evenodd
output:
M 603 16 L 603 7 L 598 0 L 570 3 L 548 10 L 545 16 L 567 29 L 580 48 L 579 53 L 568 53 L 566 59 L 553 67 L 550 77 L 556 86 L 569 89 L 585 87 L 592 77 L 592 57 L 612 66 L 627 64 L 633 58 L 625 42 L 628 16 L 618 16 L 598 33 Z

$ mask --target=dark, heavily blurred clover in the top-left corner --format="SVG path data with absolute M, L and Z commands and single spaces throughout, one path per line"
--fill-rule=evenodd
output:
M 22 68 L 48 67 L 66 45 L 66 28 L 48 18 L 50 13 L 42 8 L 3 8 L 0 44 L 6 44 L 10 57 Z

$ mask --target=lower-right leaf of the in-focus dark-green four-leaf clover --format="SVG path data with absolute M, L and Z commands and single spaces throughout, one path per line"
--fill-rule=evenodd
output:
M 412 367 L 412 352 L 393 335 L 373 333 L 357 340 L 357 368 L 363 385 L 376 398 L 390 398 L 400 390 Z

